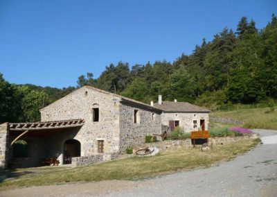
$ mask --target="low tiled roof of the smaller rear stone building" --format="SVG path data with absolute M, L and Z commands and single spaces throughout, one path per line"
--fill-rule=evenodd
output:
M 163 110 L 163 112 L 211 112 L 210 110 L 186 102 L 163 101 L 161 105 L 154 103 L 154 107 Z

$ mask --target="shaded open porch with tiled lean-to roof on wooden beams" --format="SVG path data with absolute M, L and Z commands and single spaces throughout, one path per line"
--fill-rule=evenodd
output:
M 72 157 L 82 155 L 75 136 L 83 125 L 83 119 L 8 123 L 6 166 L 70 164 Z

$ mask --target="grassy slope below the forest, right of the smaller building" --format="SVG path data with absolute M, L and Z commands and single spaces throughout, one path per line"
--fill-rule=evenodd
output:
M 226 117 L 244 122 L 244 128 L 265 128 L 277 130 L 277 111 L 270 112 L 269 108 L 256 108 L 249 110 L 217 111 L 212 116 Z

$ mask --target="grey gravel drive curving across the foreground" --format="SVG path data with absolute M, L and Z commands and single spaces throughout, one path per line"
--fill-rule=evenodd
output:
M 13 189 L 0 191 L 0 196 L 276 196 L 277 131 L 255 132 L 260 133 L 262 145 L 209 169 L 149 180 Z

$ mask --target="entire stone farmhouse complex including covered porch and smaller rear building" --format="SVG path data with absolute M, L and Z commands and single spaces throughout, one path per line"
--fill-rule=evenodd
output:
M 160 135 L 162 124 L 186 132 L 208 127 L 208 110 L 189 103 L 139 101 L 84 86 L 42 108 L 42 121 L 0 125 L 0 169 L 16 160 L 22 167 L 39 166 L 44 158 L 81 166 L 111 160 L 127 147 Z M 13 155 L 13 144 L 23 139 L 28 155 Z

